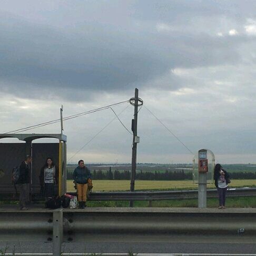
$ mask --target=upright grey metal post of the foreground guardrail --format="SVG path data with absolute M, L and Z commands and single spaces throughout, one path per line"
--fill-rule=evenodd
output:
M 62 209 L 53 211 L 53 256 L 61 255 L 63 242 L 63 212 Z

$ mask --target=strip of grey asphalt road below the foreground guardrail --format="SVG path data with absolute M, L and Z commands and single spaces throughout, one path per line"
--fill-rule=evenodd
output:
M 6 250 L 7 249 L 7 250 Z M 51 243 L 3 243 L 0 252 L 51 253 Z M 64 253 L 200 253 L 256 255 L 255 243 L 64 243 Z

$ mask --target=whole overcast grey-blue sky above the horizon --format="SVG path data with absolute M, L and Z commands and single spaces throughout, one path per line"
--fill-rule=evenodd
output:
M 67 116 L 129 100 L 137 87 L 192 152 L 255 163 L 255 40 L 256 1 L 1 1 L 0 133 L 57 119 L 62 104 Z M 133 107 L 113 109 L 130 129 Z M 66 121 L 68 159 L 114 117 Z M 192 162 L 144 107 L 138 135 L 138 162 Z M 130 162 L 131 144 L 115 119 L 71 161 Z

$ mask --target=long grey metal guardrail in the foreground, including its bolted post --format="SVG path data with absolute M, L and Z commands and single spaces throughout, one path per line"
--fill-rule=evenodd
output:
M 0 241 L 253 243 L 256 209 L 87 208 L 0 211 Z

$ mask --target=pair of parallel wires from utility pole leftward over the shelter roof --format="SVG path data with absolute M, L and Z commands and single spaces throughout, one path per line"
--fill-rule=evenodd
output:
M 111 104 L 111 105 L 99 107 L 98 109 L 89 110 L 89 111 L 85 111 L 85 112 L 82 112 L 82 113 L 66 116 L 66 117 L 63 118 L 63 121 L 74 119 L 74 118 L 79 117 L 79 116 L 95 113 L 95 112 L 102 111 L 102 110 L 105 110 L 105 109 L 109 109 L 111 106 L 116 106 L 116 105 L 124 104 L 124 103 L 127 103 L 127 102 L 129 102 L 129 101 L 122 101 L 122 102 L 114 103 L 114 104 Z M 35 128 L 38 128 L 38 127 L 42 127 L 42 126 L 46 126 L 46 125 L 50 125 L 50 124 L 55 124 L 55 123 L 60 122 L 60 121 L 61 121 L 61 119 L 55 119 L 55 120 L 52 120 L 52 121 L 27 126 L 27 127 L 21 128 L 21 129 L 14 130 L 14 131 L 9 131 L 9 132 L 6 132 L 4 134 L 25 132 L 25 131 L 32 130 L 32 129 L 35 129 Z

